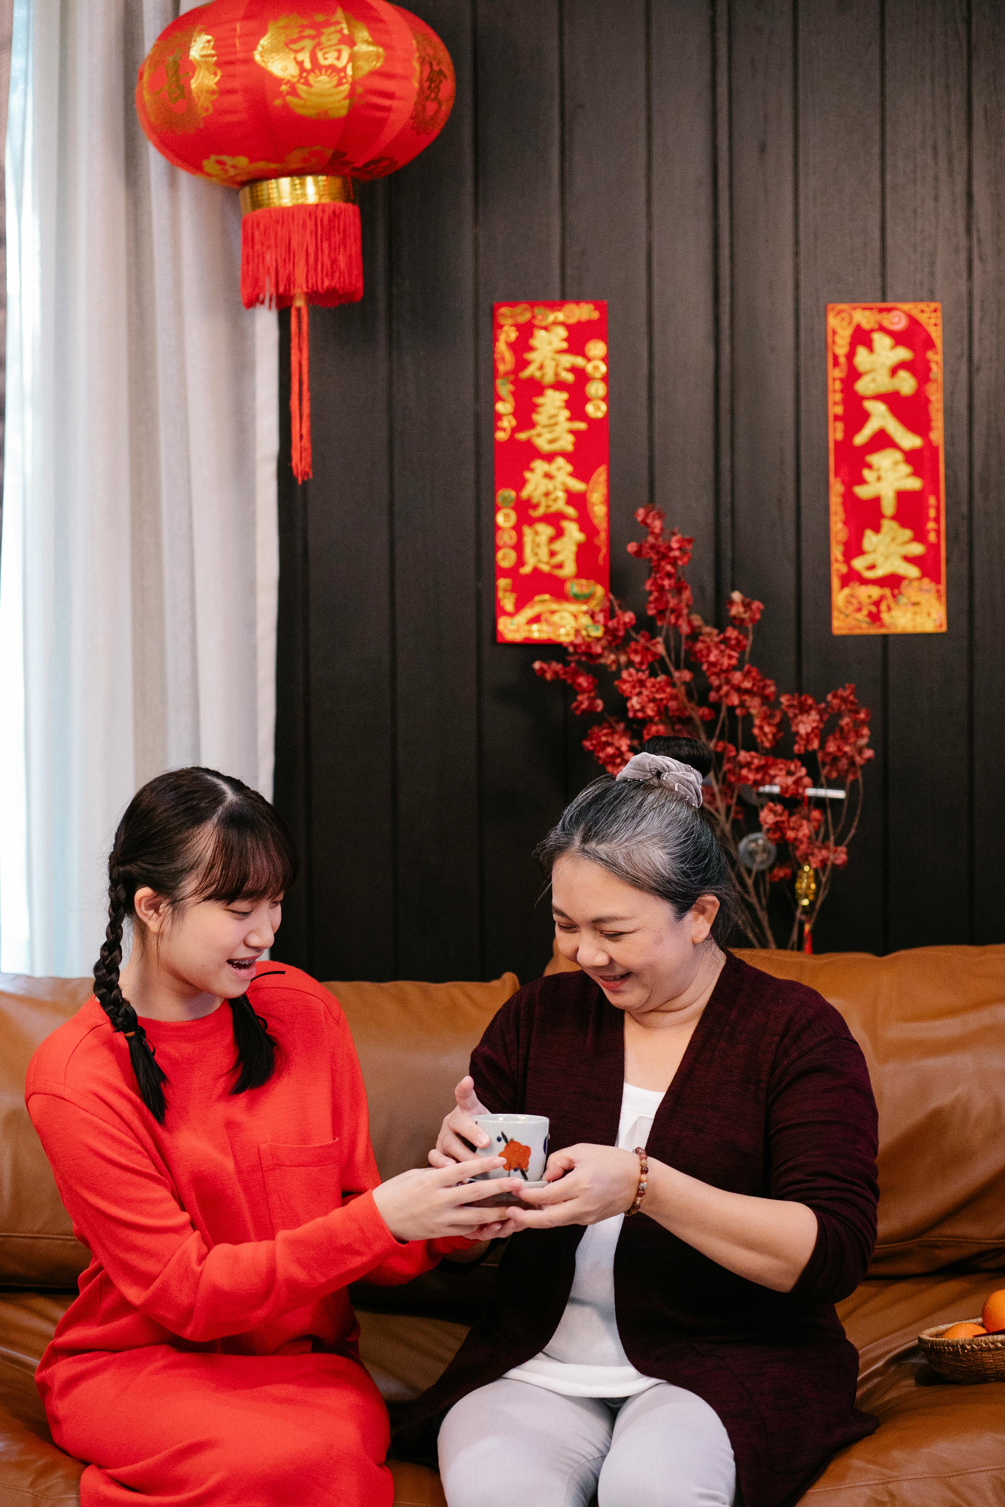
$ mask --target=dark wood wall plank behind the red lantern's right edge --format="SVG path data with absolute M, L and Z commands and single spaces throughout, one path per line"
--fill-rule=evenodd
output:
M 457 102 L 390 185 L 398 977 L 481 977 L 473 18 L 422 0 Z

